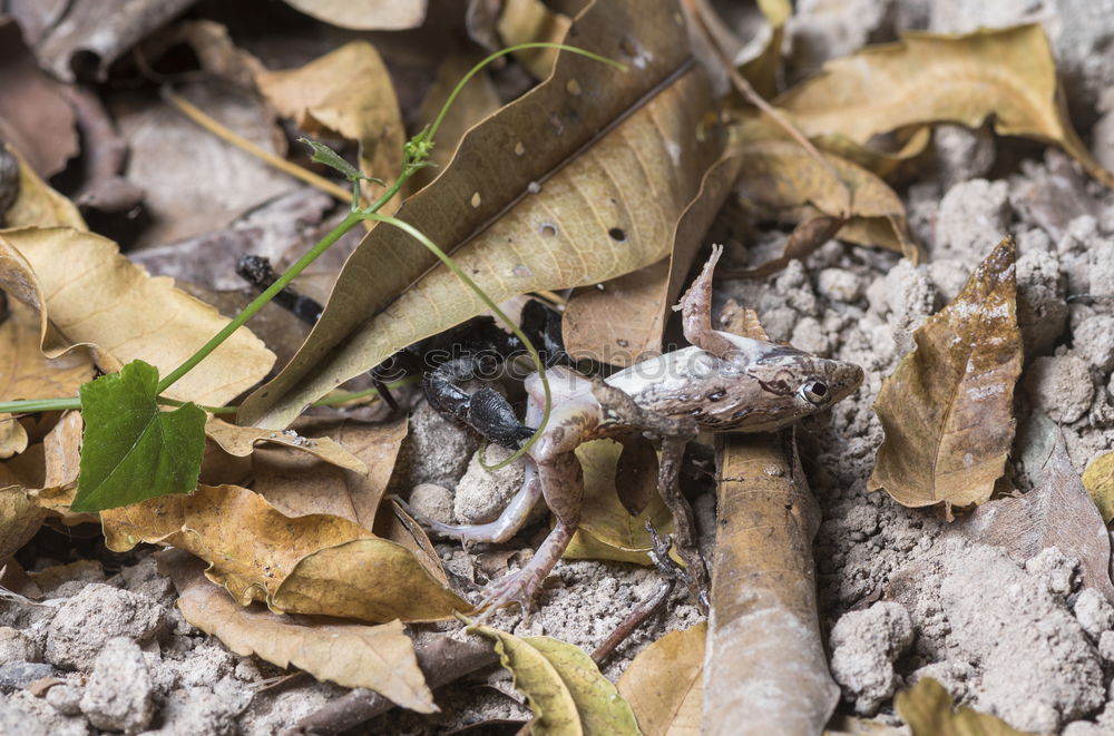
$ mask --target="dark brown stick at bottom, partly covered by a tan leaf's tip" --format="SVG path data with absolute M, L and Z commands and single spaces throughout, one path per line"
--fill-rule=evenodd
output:
M 414 648 L 418 666 L 430 689 L 437 689 L 498 661 L 495 649 L 485 640 L 451 639 L 442 636 L 432 644 Z M 358 687 L 305 716 L 282 736 L 335 736 L 371 720 L 394 707 L 382 695 Z

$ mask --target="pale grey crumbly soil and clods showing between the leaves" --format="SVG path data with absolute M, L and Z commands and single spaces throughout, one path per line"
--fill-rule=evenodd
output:
M 896 27 L 966 31 L 1040 21 L 1075 120 L 1094 121 L 1092 149 L 1114 165 L 1114 57 L 1101 53 L 1103 39 L 1114 35 L 1110 2 L 815 0 L 801 2 L 799 13 L 789 24 L 791 76 L 891 37 Z M 1017 174 L 990 178 L 998 157 L 1013 151 L 985 131 L 941 126 L 934 144 L 935 168 L 903 193 L 910 225 L 930 255 L 927 266 L 833 242 L 764 282 L 724 282 L 720 295 L 755 307 L 773 340 L 867 370 L 860 392 L 805 440 L 824 518 L 815 559 L 832 670 L 849 707 L 895 724 L 893 693 L 931 676 L 958 700 L 1017 728 L 1114 733 L 1114 607 L 1082 586 L 1072 550 L 1049 548 L 1018 560 L 962 533 L 945 533 L 947 526 L 930 512 L 866 492 L 882 439 L 871 410 L 882 376 L 911 349 L 912 332 L 958 293 L 1007 232 L 1018 243 L 1018 312 L 1028 356 L 1019 423 L 1034 409 L 1062 423 L 1076 471 L 1114 448 L 1114 317 L 1101 304 L 1066 300 L 1114 294 L 1114 195 L 1053 151 L 1026 149 Z M 729 255 L 759 264 L 780 253 L 783 238 L 769 237 L 765 248 L 760 243 L 751 253 L 736 246 Z M 514 471 L 477 472 L 475 449 L 472 438 L 420 405 L 395 478 L 417 487 L 411 501 L 431 518 L 485 521 L 517 478 Z M 1008 470 L 1025 488 L 1024 470 Z M 710 518 L 710 501 L 709 494 L 697 500 L 700 518 Z M 534 538 L 520 537 L 521 549 L 510 555 L 530 553 L 545 533 L 534 529 Z M 476 580 L 477 566 L 507 565 L 506 555 L 477 558 L 457 544 L 437 550 L 450 573 L 465 580 Z M 233 655 L 190 627 L 149 549 L 125 556 L 87 549 L 85 556 L 92 559 L 74 562 L 41 551 L 39 567 L 69 562 L 36 579 L 42 601 L 0 605 L 0 733 L 273 734 L 344 691 L 305 676 L 282 679 L 283 670 Z M 656 581 L 645 568 L 566 560 L 530 621 L 504 615 L 496 624 L 590 649 Z M 619 647 L 605 675 L 616 679 L 664 631 L 700 619 L 681 591 L 667 610 Z M 43 677 L 61 683 L 43 698 L 23 689 Z M 365 733 L 431 733 L 522 718 L 520 700 L 497 671 L 441 691 L 442 712 L 432 718 L 397 712 Z

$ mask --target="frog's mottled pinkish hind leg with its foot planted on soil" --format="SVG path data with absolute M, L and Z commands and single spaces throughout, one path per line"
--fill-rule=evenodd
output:
M 584 499 L 584 471 L 574 452 L 582 439 L 583 434 L 575 424 L 557 426 L 547 432 L 538 443 L 541 446 L 531 453 L 538 465 L 546 504 L 557 523 L 522 569 L 488 586 L 479 607 L 488 609 L 489 614 L 516 602 L 524 611 L 530 610 L 546 576 L 573 540 L 580 523 Z

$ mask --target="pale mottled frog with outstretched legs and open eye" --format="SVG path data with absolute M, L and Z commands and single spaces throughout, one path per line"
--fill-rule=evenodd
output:
M 518 602 L 528 610 L 546 576 L 560 559 L 577 529 L 584 479 L 574 451 L 589 440 L 648 436 L 661 444 L 658 490 L 677 520 L 677 541 L 694 552 L 688 504 L 677 489 L 685 443 L 700 430 L 765 432 L 830 408 L 862 382 L 862 369 L 851 363 L 803 353 L 712 330 L 712 271 L 723 248 L 713 248 L 700 276 L 675 307 L 683 311 L 685 338 L 692 346 L 643 361 L 593 380 L 565 366 L 546 371 L 553 394 L 549 423 L 527 454 L 526 481 L 502 514 L 490 523 L 451 526 L 419 518 L 431 531 L 475 542 L 502 542 L 526 522 L 540 498 L 556 526 L 534 558 L 520 570 L 494 581 L 480 608 L 489 611 Z M 458 366 L 459 367 L 459 366 Z M 545 402 L 535 373 L 526 380 L 529 403 L 526 425 L 509 403 L 491 389 L 465 394 L 452 370 L 427 376 L 430 401 L 500 444 L 517 448 L 541 420 Z M 685 556 L 700 595 L 706 596 L 706 572 L 698 555 Z

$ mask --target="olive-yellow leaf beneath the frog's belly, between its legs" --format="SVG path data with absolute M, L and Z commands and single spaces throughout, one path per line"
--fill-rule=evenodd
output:
M 651 478 L 654 493 L 647 507 L 636 517 L 623 507 L 615 489 L 616 465 L 623 445 L 614 440 L 594 440 L 576 449 L 584 469 L 584 502 L 580 527 L 565 557 L 571 559 L 617 560 L 649 565 L 647 551 L 653 547 L 646 520 L 658 533 L 673 530 L 673 518 L 657 494 L 656 477 Z

